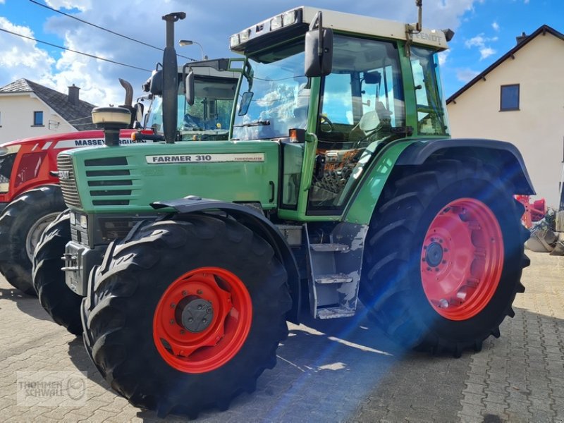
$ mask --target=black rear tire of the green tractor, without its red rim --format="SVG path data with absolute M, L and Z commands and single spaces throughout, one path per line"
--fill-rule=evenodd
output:
M 440 159 L 396 176 L 372 217 L 364 252 L 360 300 L 388 336 L 406 348 L 460 357 L 482 349 L 490 335 L 499 336 L 505 316 L 514 316 L 513 300 L 525 291 L 522 269 L 529 265 L 521 225 L 523 208 L 513 187 L 495 166 L 482 161 Z M 422 247 L 427 229 L 451 201 L 462 197 L 486 204 L 501 227 L 503 269 L 484 308 L 464 320 L 447 319 L 431 307 L 422 286 Z

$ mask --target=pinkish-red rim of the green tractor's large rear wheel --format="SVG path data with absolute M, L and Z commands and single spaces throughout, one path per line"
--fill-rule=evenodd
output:
M 494 212 L 460 198 L 441 209 L 427 230 L 421 279 L 431 306 L 442 317 L 466 320 L 488 305 L 503 269 L 503 238 Z

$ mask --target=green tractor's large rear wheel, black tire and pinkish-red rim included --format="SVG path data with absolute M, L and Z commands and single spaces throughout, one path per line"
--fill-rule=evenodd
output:
M 480 350 L 525 290 L 521 215 L 512 187 L 479 160 L 437 160 L 396 178 L 367 237 L 369 317 L 410 348 Z

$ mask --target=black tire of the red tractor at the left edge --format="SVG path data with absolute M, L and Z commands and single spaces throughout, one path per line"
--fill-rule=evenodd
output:
M 64 209 L 61 187 L 44 185 L 17 197 L 0 216 L 0 273 L 27 295 L 36 295 L 32 262 L 26 252 L 27 236 L 35 223 Z

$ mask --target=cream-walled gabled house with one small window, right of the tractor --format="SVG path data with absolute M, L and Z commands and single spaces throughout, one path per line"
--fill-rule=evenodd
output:
M 447 99 L 453 137 L 520 149 L 537 197 L 558 209 L 564 164 L 564 35 L 542 25 Z

